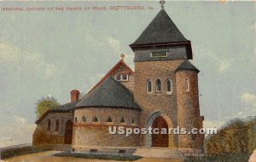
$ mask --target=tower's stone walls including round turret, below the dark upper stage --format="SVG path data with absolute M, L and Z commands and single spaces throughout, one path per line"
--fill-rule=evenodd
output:
M 152 120 L 160 115 L 165 118 L 169 128 L 201 128 L 197 74 L 189 70 L 175 74 L 174 71 L 182 63 L 182 59 L 135 63 L 134 96 L 143 108 L 141 126 L 150 126 Z M 186 77 L 191 81 L 190 92 L 185 92 Z M 162 84 L 161 92 L 155 91 L 157 79 L 160 79 Z M 172 93 L 166 92 L 168 79 L 172 81 Z M 152 92 L 147 92 L 148 80 L 152 81 Z M 172 135 L 169 136 L 169 148 L 201 148 L 203 138 L 204 136 L 197 135 L 192 140 L 190 135 Z M 141 145 L 150 147 L 150 140 L 150 136 L 142 136 Z

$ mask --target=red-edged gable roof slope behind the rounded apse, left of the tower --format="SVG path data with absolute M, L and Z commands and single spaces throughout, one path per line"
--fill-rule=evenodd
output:
M 94 87 L 92 87 L 92 88 L 90 89 L 90 91 L 89 91 L 88 93 L 90 93 L 92 90 L 94 90 L 96 87 L 98 87 L 98 86 L 99 86 L 103 81 L 105 81 L 110 75 L 113 75 L 113 73 L 115 72 L 115 70 L 118 70 L 121 65 L 125 66 L 125 68 L 126 68 L 127 70 L 129 70 L 132 75 L 134 74 L 134 71 L 131 70 L 131 68 L 130 68 L 127 64 L 125 64 L 124 60 L 121 59 L 121 60 L 119 60 L 119 62 L 118 62 L 117 64 L 115 64 L 115 65 L 113 66 L 113 68 L 112 68 L 111 70 L 108 71 L 108 73 L 107 73 L 106 75 L 104 75 L 104 76 L 102 77 L 102 79 L 101 79 L 99 82 L 96 83 L 96 85 L 95 85 Z

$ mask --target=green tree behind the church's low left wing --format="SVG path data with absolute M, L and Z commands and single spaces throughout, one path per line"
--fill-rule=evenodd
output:
M 60 107 L 61 103 L 58 103 L 58 101 L 53 96 L 46 96 L 44 98 L 41 98 L 36 103 L 36 115 L 37 118 L 40 118 L 41 115 L 44 115 L 44 113 L 48 109 L 57 109 Z

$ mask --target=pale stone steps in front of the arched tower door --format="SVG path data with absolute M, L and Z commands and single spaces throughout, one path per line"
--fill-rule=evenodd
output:
M 133 155 L 144 158 L 184 159 L 183 153 L 177 149 L 168 148 L 137 148 Z

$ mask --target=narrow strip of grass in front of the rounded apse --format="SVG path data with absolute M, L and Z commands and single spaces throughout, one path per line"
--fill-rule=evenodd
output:
M 132 156 L 132 155 L 116 155 L 116 154 L 79 154 L 71 152 L 61 152 L 54 154 L 54 156 L 59 157 L 73 157 L 73 158 L 82 158 L 82 159 L 107 159 L 107 160 L 118 160 L 118 161 L 134 161 L 137 159 L 142 159 L 141 156 Z

